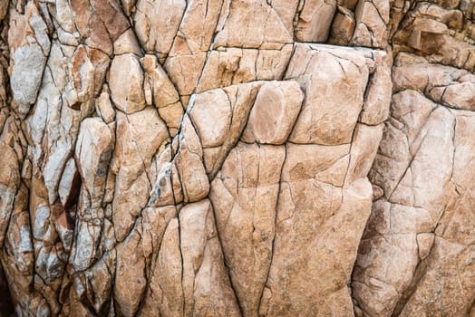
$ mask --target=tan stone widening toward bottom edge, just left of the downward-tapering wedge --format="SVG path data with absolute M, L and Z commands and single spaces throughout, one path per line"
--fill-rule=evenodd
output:
M 179 212 L 185 315 L 239 316 L 208 199 Z

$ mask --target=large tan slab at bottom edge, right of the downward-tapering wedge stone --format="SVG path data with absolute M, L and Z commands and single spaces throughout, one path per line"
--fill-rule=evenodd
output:
M 315 180 L 284 184 L 264 314 L 352 312 L 346 283 L 358 248 L 352 241 L 359 240 L 370 213 L 370 183 L 359 179 L 344 190 Z M 356 210 L 358 217 L 349 216 Z

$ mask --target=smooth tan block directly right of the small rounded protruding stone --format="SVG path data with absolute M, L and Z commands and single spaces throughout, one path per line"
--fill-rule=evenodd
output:
M 348 49 L 341 49 L 343 54 L 339 56 L 339 50 L 297 45 L 286 79 L 300 83 L 305 91 L 305 101 L 290 141 L 322 145 L 351 141 L 363 107 L 369 72 L 363 53 L 350 54 Z

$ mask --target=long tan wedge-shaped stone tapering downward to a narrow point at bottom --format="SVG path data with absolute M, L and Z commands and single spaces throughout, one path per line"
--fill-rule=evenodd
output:
M 271 264 L 284 157 L 284 147 L 239 143 L 211 183 L 219 237 L 245 316 L 257 314 Z

